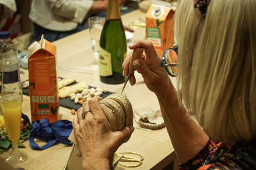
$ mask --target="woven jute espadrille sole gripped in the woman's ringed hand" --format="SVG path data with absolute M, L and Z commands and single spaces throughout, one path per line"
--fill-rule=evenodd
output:
M 126 126 L 133 125 L 132 105 L 127 97 L 119 94 L 112 94 L 105 99 L 100 100 L 99 104 L 113 130 L 120 131 Z M 68 139 L 74 144 L 64 170 L 83 170 L 82 153 L 79 149 L 74 131 L 71 132 Z M 122 157 L 123 155 L 114 155 L 111 169 L 115 169 L 118 161 Z

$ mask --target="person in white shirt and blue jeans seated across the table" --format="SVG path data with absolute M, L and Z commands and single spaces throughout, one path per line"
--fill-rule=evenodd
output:
M 54 41 L 89 28 L 87 18 L 107 11 L 107 7 L 108 0 L 33 0 L 29 19 L 34 22 L 37 40 L 44 34 L 46 40 Z

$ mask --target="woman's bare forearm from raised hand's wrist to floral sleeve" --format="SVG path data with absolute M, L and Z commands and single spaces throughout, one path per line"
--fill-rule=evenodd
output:
M 171 81 L 168 86 L 165 94 L 156 96 L 175 153 L 179 162 L 184 164 L 205 147 L 209 137 L 190 117 L 186 108 L 179 104 L 177 91 Z

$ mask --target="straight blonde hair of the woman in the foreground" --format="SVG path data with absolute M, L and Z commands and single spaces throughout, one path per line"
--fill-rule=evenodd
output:
M 192 0 L 175 14 L 183 103 L 206 134 L 233 143 L 256 136 L 256 1 Z

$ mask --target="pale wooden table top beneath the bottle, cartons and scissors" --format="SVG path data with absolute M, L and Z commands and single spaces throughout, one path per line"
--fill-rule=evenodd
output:
M 124 25 L 129 25 L 130 22 L 139 20 L 139 18 L 145 19 L 146 13 L 139 10 L 130 12 L 122 16 Z M 135 38 L 145 38 L 145 28 L 135 29 Z M 130 41 L 132 43 L 132 41 Z M 128 45 L 130 43 L 127 43 Z M 58 66 L 78 66 L 86 67 L 87 64 L 93 61 L 93 52 L 91 49 L 89 30 L 75 33 L 69 37 L 54 41 L 53 43 L 57 47 L 57 59 Z M 128 52 L 130 49 L 128 48 Z M 128 53 L 127 52 L 127 53 Z M 26 74 L 21 74 L 22 81 L 28 79 L 28 71 L 22 69 Z M 99 70 L 81 70 L 84 72 L 94 73 L 94 75 L 74 73 L 58 70 L 58 76 L 62 78 L 75 78 L 77 82 L 85 81 L 92 87 L 107 88 L 108 91 L 121 93 L 123 84 L 111 85 L 100 82 Z M 141 76 L 135 74 L 138 81 L 142 81 Z M 175 79 L 172 79 L 175 84 Z M 124 90 L 124 94 L 129 98 L 134 108 L 149 106 L 155 111 L 159 109 L 159 104 L 156 96 L 153 92 L 149 91 L 145 83 L 135 84 L 131 87 L 127 83 Z M 30 118 L 30 103 L 29 97 L 23 96 L 23 108 L 22 112 L 27 114 Z M 70 114 L 70 109 L 60 107 L 60 119 L 72 121 L 76 115 Z M 134 126 L 139 126 L 134 122 Z M 36 140 L 39 146 L 45 144 L 44 141 Z M 23 142 L 26 148 L 20 148 L 20 150 L 26 151 L 29 158 L 23 163 L 13 164 L 14 167 L 22 167 L 26 170 L 30 169 L 63 169 L 66 165 L 68 156 L 71 150 L 70 146 L 64 146 L 60 143 L 45 149 L 45 150 L 34 150 L 29 145 L 28 140 Z M 118 150 L 117 153 L 123 151 L 134 151 L 144 156 L 142 165 L 132 169 L 163 169 L 176 159 L 174 149 L 172 147 L 169 135 L 167 134 L 166 128 L 161 130 L 155 130 L 149 132 L 145 130 L 135 129 L 131 139 L 124 143 Z M 2 154 L 0 154 L 2 157 Z M 175 163 L 177 168 L 177 163 Z M 123 166 L 117 166 L 116 169 L 131 169 Z

